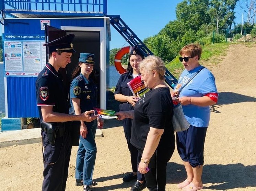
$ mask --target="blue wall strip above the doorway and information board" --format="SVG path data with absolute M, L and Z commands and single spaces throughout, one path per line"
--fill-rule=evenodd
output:
M 4 33 L 12 34 L 44 34 L 41 30 L 40 20 L 45 19 L 7 19 L 4 25 Z M 50 25 L 56 28 L 61 26 L 77 26 L 77 27 L 104 27 L 104 19 L 47 19 Z

